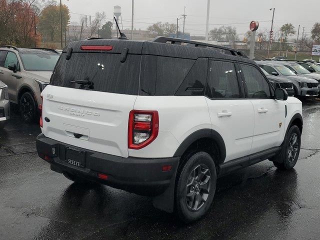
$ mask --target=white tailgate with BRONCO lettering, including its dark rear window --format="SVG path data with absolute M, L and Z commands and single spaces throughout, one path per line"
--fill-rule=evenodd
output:
M 128 116 L 138 94 L 141 55 L 127 54 L 123 61 L 120 52 L 78 50 L 69 59 L 66 56 L 61 54 L 50 85 L 42 92 L 43 134 L 127 157 Z

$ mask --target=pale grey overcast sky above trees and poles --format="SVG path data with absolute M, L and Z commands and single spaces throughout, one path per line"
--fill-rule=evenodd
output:
M 107 18 L 113 16 L 113 6 L 121 6 L 123 28 L 131 28 L 131 0 L 62 0 L 69 7 L 71 22 L 79 21 L 78 14 L 94 15 L 96 11 L 105 11 Z M 176 23 L 185 8 L 185 31 L 191 35 L 205 35 L 207 0 L 134 0 L 134 28 L 146 29 L 157 21 Z M 319 0 L 210 0 L 209 29 L 220 25 L 231 25 L 237 33 L 248 30 L 251 20 L 258 20 L 261 29 L 271 26 L 272 11 L 275 7 L 275 28 L 292 23 L 305 27 L 306 35 L 319 19 Z M 182 30 L 182 19 L 179 20 Z M 242 35 L 243 36 L 243 35 Z M 241 35 L 239 35 L 241 38 Z

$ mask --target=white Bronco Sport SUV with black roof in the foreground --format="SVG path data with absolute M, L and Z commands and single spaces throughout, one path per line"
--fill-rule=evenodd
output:
M 221 46 L 72 42 L 42 98 L 36 147 L 52 170 L 150 195 L 185 222 L 208 210 L 217 177 L 264 159 L 290 169 L 299 154 L 301 102 Z

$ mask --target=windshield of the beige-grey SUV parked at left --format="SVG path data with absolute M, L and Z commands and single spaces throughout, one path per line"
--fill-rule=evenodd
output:
M 59 54 L 20 53 L 23 68 L 26 71 L 53 71 Z

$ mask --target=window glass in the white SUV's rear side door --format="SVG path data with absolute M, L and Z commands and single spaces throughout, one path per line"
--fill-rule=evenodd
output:
M 210 98 L 240 97 L 233 62 L 209 61 L 206 95 Z

